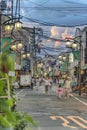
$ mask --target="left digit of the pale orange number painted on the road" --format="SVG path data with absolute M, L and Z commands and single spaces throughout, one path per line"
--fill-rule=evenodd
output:
M 76 127 L 71 126 L 71 125 L 68 125 L 68 124 L 69 124 L 69 121 L 68 121 L 67 119 L 65 119 L 63 116 L 50 116 L 50 118 L 51 118 L 52 120 L 57 120 L 57 118 L 60 118 L 60 119 L 63 121 L 62 125 L 63 125 L 64 127 L 69 127 L 69 128 L 76 129 Z

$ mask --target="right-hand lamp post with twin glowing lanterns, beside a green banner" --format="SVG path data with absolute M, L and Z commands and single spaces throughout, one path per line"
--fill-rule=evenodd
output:
M 76 39 L 79 39 L 79 41 Z M 81 66 L 82 66 L 82 56 L 83 56 L 83 45 L 81 41 L 81 35 L 75 37 L 72 40 L 74 41 L 73 43 L 71 43 L 71 41 L 69 40 L 66 42 L 66 47 L 69 47 L 74 50 L 78 50 L 78 44 L 79 44 L 80 59 L 78 62 L 78 87 L 79 87 L 79 95 L 81 95 Z

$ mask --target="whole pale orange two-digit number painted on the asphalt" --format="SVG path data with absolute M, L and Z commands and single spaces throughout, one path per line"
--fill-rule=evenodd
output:
M 66 118 L 63 117 L 63 116 L 50 116 L 50 118 L 51 118 L 52 120 L 57 120 L 58 118 L 61 119 L 61 120 L 63 121 L 62 126 L 64 126 L 64 127 L 69 127 L 69 128 L 77 129 L 77 127 L 72 126 L 72 125 L 69 125 L 69 123 L 70 123 L 69 120 L 71 120 L 71 121 L 73 121 L 75 124 L 77 124 L 78 126 L 80 126 L 81 128 L 87 129 L 87 126 L 83 124 L 83 123 L 87 124 L 87 120 L 83 119 L 83 118 L 80 117 L 80 116 L 67 116 L 66 118 L 68 118 L 69 120 L 66 119 Z M 78 121 L 78 120 L 80 120 L 80 121 L 83 122 L 83 123 L 81 123 L 81 122 Z

